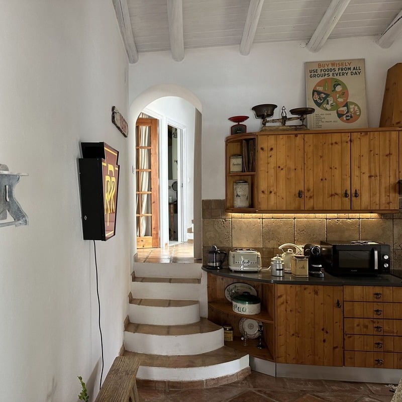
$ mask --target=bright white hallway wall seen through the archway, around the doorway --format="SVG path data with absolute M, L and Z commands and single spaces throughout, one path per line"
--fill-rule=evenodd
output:
M 162 124 L 166 126 L 167 122 L 175 122 L 185 127 L 185 145 L 186 145 L 186 217 L 185 227 L 191 227 L 193 219 L 193 170 L 194 170 L 194 119 L 195 108 L 187 100 L 177 96 L 165 96 L 154 100 L 147 106 L 147 110 L 163 116 Z M 173 124 L 174 125 L 174 124 Z M 167 136 L 167 134 L 166 134 Z M 162 145 L 162 144 L 161 144 Z M 165 203 L 165 205 L 167 205 Z

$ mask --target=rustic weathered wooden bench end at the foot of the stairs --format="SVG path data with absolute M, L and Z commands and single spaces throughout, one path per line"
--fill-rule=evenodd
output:
M 116 357 L 95 402 L 140 402 L 136 383 L 139 366 L 138 357 Z

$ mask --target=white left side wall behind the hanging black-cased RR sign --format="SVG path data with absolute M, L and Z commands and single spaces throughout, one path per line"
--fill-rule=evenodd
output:
M 110 0 L 18 0 L 0 13 L 0 163 L 29 225 L 0 228 L 0 399 L 91 400 L 100 377 L 93 243 L 82 240 L 80 141 L 120 151 L 117 235 L 96 242 L 104 377 L 123 342 L 129 292 L 127 56 Z M 94 392 L 92 390 L 94 389 Z

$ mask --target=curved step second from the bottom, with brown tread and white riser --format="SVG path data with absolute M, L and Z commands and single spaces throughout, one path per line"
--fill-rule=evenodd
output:
M 155 355 L 193 355 L 224 346 L 223 328 L 205 318 L 186 325 L 128 323 L 124 331 L 125 349 Z

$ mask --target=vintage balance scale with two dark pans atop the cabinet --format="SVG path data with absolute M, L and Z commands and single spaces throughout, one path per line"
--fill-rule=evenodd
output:
M 277 105 L 264 104 L 257 105 L 251 108 L 254 111 L 255 117 L 262 120 L 261 131 L 268 130 L 308 130 L 305 125 L 305 119 L 307 115 L 311 115 L 315 112 L 313 108 L 295 108 L 290 109 L 290 114 L 297 117 L 287 117 L 286 108 L 282 106 L 281 118 L 280 119 L 270 119 L 273 116 L 273 111 L 277 108 Z M 270 119 L 270 120 L 269 120 Z M 286 122 L 293 120 L 300 120 L 302 124 L 286 126 Z M 280 126 L 266 126 L 267 123 L 280 123 Z

